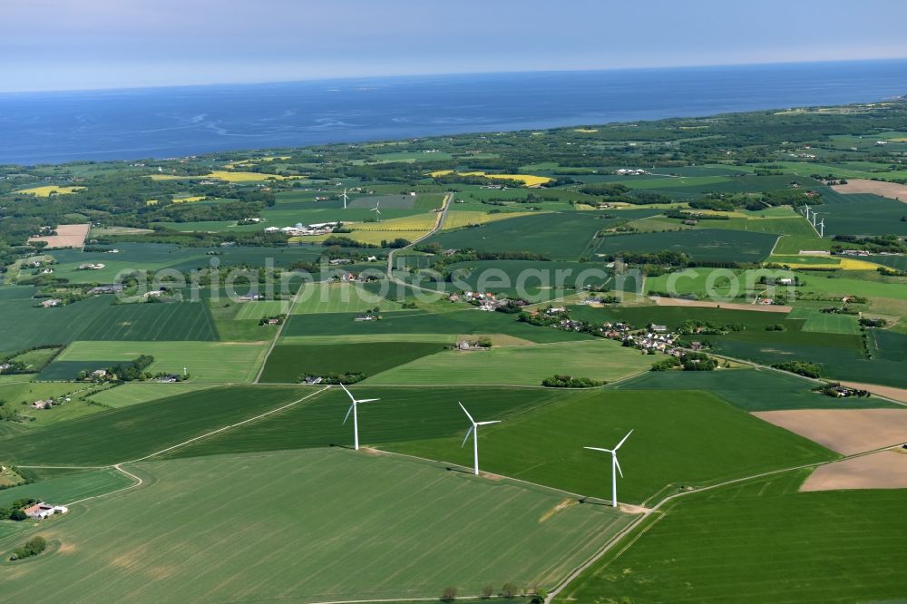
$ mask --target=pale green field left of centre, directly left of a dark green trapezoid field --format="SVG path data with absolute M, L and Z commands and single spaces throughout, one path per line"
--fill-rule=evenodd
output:
M 182 374 L 185 367 L 192 381 L 251 382 L 267 351 L 266 342 L 73 342 L 57 361 L 129 363 L 139 355 L 151 355 L 152 374 Z

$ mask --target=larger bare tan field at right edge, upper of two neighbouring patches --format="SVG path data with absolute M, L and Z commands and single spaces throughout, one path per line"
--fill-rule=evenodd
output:
M 907 443 L 907 409 L 797 409 L 754 415 L 845 455 Z

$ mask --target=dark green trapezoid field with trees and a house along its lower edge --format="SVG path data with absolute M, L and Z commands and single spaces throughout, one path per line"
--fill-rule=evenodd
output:
M 363 373 L 380 374 L 421 356 L 432 355 L 443 345 L 432 342 L 358 342 L 296 346 L 281 344 L 268 356 L 260 381 L 265 384 L 296 384 L 304 375 Z

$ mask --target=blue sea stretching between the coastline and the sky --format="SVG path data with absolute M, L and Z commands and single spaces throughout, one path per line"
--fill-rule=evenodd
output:
M 907 94 L 907 60 L 0 94 L 0 163 L 130 160 Z

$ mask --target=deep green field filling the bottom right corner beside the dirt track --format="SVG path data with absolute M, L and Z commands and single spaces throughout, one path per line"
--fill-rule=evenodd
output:
M 806 473 L 680 498 L 555 601 L 901 601 L 907 490 L 796 492 Z

